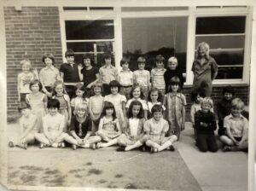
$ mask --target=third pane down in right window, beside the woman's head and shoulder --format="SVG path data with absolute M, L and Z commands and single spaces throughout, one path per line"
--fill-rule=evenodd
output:
M 243 65 L 243 50 L 211 51 L 210 55 L 212 55 L 219 66 Z

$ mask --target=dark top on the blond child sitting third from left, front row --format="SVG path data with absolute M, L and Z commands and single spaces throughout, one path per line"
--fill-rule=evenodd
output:
M 74 130 L 77 136 L 84 138 L 87 135 L 88 131 L 91 131 L 91 119 L 89 116 L 86 116 L 86 119 L 83 123 L 79 123 L 76 116 L 72 116 L 70 123 L 70 131 Z

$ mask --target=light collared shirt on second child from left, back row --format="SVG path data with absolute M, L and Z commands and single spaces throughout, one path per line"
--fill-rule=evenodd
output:
M 44 86 L 52 86 L 55 81 L 60 80 L 60 72 L 54 66 L 51 67 L 44 67 L 39 72 L 40 82 Z

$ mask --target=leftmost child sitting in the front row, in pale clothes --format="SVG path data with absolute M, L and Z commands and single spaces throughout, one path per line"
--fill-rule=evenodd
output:
M 13 148 L 17 146 L 26 149 L 28 143 L 35 141 L 34 135 L 38 132 L 38 119 L 31 112 L 30 107 L 25 101 L 20 102 L 18 110 L 22 115 L 20 118 L 20 136 L 16 142 L 9 142 L 9 147 Z

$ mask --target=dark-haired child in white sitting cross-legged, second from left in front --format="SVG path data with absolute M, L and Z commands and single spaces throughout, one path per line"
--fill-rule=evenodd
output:
M 65 148 L 64 139 L 67 133 L 63 132 L 65 126 L 65 117 L 58 113 L 60 101 L 50 99 L 47 103 L 49 113 L 46 114 L 43 121 L 44 133 L 37 133 L 35 138 L 40 142 L 39 148 L 51 146 L 53 148 Z

